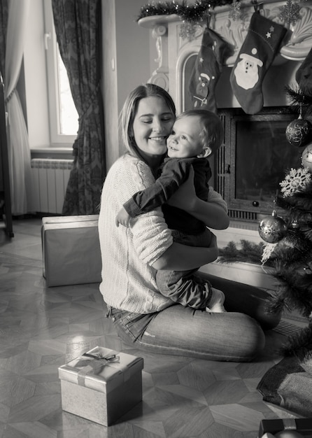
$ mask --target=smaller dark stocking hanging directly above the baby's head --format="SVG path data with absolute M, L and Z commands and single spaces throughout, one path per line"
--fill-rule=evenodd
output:
M 225 59 L 232 54 L 232 46 L 215 31 L 206 28 L 201 48 L 190 78 L 189 92 L 193 108 L 217 112 L 215 85 L 220 78 Z

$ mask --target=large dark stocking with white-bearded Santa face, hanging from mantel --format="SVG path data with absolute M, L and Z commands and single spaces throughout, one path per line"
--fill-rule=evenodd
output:
M 230 76 L 235 97 L 247 114 L 255 114 L 262 109 L 262 81 L 286 32 L 281 24 L 253 13 L 248 34 Z

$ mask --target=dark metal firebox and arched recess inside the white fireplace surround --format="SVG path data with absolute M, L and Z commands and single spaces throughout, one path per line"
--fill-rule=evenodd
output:
M 182 110 L 192 108 L 188 92 L 196 55 L 183 64 Z M 274 209 L 279 183 L 290 168 L 300 166 L 297 147 L 285 137 L 288 124 L 297 118 L 287 104 L 285 84 L 292 82 L 298 62 L 271 66 L 264 78 L 264 107 L 248 115 L 238 107 L 229 83 L 230 67 L 224 67 L 215 100 L 225 129 L 224 145 L 211 157 L 212 185 L 227 202 L 232 220 L 258 222 Z

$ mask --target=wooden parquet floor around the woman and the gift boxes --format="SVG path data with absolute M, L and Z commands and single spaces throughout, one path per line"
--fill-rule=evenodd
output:
M 291 416 L 256 386 L 295 325 L 267 332 L 253 363 L 141 353 L 118 339 L 97 283 L 45 286 L 40 218 L 14 220 L 13 231 L 0 229 L 0 437 L 256 438 L 262 418 Z M 144 359 L 143 402 L 109 428 L 61 406 L 57 368 L 94 346 Z

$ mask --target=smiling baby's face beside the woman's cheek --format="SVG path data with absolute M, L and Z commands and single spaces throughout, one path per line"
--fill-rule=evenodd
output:
M 197 157 L 203 150 L 199 134 L 201 133 L 199 118 L 187 116 L 174 122 L 166 146 L 171 158 Z

